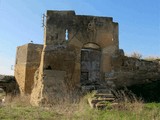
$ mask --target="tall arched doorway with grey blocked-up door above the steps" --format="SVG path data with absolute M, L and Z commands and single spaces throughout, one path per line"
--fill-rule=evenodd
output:
M 81 77 L 82 85 L 100 80 L 100 47 L 88 43 L 81 49 Z

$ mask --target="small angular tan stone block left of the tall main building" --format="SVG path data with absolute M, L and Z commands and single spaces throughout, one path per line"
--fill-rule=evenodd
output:
M 21 94 L 31 93 L 34 73 L 40 65 L 42 48 L 42 45 L 31 43 L 17 47 L 15 78 Z

